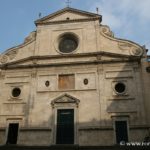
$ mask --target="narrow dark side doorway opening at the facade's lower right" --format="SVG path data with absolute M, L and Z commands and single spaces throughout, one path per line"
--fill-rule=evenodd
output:
M 127 121 L 115 121 L 115 129 L 117 144 L 119 144 L 121 141 L 128 142 Z

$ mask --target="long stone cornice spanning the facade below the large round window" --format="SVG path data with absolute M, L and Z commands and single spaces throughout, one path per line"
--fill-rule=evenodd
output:
M 109 56 L 113 59 L 101 59 L 102 56 Z M 95 57 L 95 60 L 87 60 L 85 61 L 84 58 L 86 57 Z M 55 59 L 63 59 L 66 58 L 65 62 L 56 62 Z M 67 58 L 80 58 L 77 61 L 70 62 L 67 61 Z M 52 63 L 40 63 L 40 60 L 54 60 Z M 94 53 L 82 53 L 82 54 L 67 54 L 67 55 L 51 55 L 51 56 L 31 56 L 25 59 L 21 59 L 18 61 L 6 63 L 0 65 L 0 68 L 5 69 L 14 69 L 14 68 L 39 68 L 39 67 L 57 67 L 57 66 L 64 66 L 64 65 L 86 65 L 86 64 L 102 64 L 102 63 L 117 63 L 117 62 L 139 62 L 141 57 L 139 56 L 130 56 L 130 55 L 123 55 L 123 54 L 114 54 L 108 52 L 94 52 Z M 32 62 L 31 64 L 26 64 L 27 62 Z M 25 64 L 23 64 L 25 63 Z M 21 65 L 20 65 L 21 64 Z

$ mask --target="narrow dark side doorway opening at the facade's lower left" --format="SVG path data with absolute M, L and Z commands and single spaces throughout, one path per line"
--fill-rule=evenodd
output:
M 17 144 L 19 123 L 10 123 L 6 144 Z

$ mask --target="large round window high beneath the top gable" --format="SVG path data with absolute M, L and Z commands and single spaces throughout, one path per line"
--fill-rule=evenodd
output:
M 78 47 L 78 39 L 72 34 L 65 34 L 59 40 L 59 51 L 71 53 Z

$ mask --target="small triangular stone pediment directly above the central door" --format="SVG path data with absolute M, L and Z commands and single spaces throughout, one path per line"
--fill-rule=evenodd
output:
M 51 104 L 55 105 L 55 104 L 58 104 L 58 103 L 75 103 L 75 104 L 78 105 L 79 102 L 80 102 L 80 100 L 78 100 L 77 98 L 65 93 L 65 94 L 57 97 L 56 99 L 54 99 L 51 102 Z

